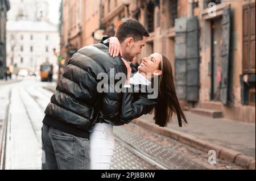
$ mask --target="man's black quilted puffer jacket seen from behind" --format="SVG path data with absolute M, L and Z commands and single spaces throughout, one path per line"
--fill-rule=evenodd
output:
M 97 75 L 110 75 L 112 68 L 112 76 L 117 73 L 127 74 L 121 57 L 109 55 L 108 44 L 100 43 L 80 49 L 65 68 L 51 103 L 46 108 L 43 123 L 84 138 L 88 138 L 93 124 L 98 120 L 123 125 L 119 117 L 123 94 L 97 91 L 101 81 Z

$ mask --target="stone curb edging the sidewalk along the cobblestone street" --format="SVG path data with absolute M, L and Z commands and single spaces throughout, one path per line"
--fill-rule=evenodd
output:
M 215 150 L 217 158 L 232 162 L 235 165 L 241 166 L 245 169 L 255 170 L 255 158 L 248 157 L 238 151 L 225 148 L 224 146 L 212 144 L 208 141 L 201 140 L 200 138 L 191 136 L 187 133 L 176 131 L 174 129 L 158 127 L 155 124 L 148 123 L 146 120 L 135 119 L 133 120 L 133 123 L 143 128 L 150 129 L 154 133 L 170 137 L 174 140 L 192 146 L 193 148 L 204 151 L 206 153 L 208 153 L 209 150 Z

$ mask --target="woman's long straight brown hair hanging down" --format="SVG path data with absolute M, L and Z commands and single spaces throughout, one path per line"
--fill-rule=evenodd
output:
M 158 104 L 155 110 L 155 124 L 160 127 L 166 127 L 167 123 L 171 121 L 173 113 L 176 113 L 179 121 L 179 127 L 182 127 L 182 120 L 185 123 L 187 119 L 181 110 L 179 100 L 174 86 L 174 75 L 172 73 L 172 65 L 166 56 L 162 54 L 163 60 L 159 64 L 159 70 L 162 70 L 162 75 L 159 77 L 158 87 Z

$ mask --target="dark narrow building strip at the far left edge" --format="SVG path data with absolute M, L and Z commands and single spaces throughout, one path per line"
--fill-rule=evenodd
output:
M 0 79 L 4 77 L 6 66 L 6 21 L 10 10 L 9 0 L 0 1 Z

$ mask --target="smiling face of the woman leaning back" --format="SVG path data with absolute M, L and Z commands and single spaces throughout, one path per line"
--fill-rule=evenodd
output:
M 162 54 L 153 53 L 148 57 L 142 59 L 141 65 L 139 65 L 138 69 L 140 73 L 151 73 L 152 75 L 162 75 L 162 71 L 160 71 L 159 65 L 162 61 Z

